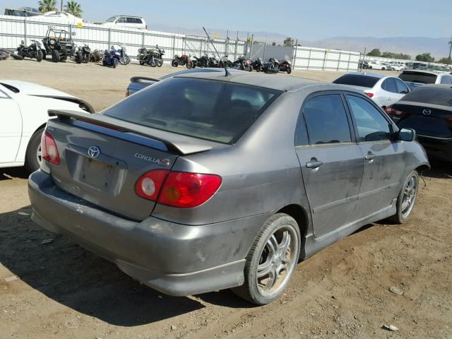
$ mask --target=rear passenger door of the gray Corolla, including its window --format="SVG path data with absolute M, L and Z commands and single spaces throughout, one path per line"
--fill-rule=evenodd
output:
M 295 138 L 315 237 L 357 220 L 363 158 L 350 129 L 343 97 L 323 92 L 308 97 Z

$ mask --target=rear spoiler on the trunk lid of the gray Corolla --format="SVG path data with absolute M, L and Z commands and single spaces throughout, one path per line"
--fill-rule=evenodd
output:
M 76 111 L 49 109 L 48 114 L 49 116 L 57 116 L 61 121 L 74 119 L 87 122 L 88 124 L 105 127 L 107 129 L 114 129 L 123 133 L 133 133 L 138 136 L 144 136 L 145 138 L 151 138 L 155 141 L 164 143 L 169 150 L 174 150 L 180 155 L 204 152 L 222 146 L 221 143 L 204 141 L 198 138 L 191 138 L 190 136 L 183 136 L 167 131 L 160 131 L 159 129 L 133 124 L 128 121 L 107 117 L 106 115 L 99 113 L 88 114 Z

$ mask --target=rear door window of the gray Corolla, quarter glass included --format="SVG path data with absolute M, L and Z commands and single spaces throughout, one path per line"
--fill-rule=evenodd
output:
M 310 145 L 352 141 L 340 95 L 319 95 L 309 99 L 304 103 L 303 114 Z

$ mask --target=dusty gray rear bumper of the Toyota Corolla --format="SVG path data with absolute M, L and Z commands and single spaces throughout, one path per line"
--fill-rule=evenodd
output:
M 268 215 L 204 226 L 149 217 L 133 222 L 54 186 L 42 171 L 28 180 L 32 220 L 45 230 L 117 264 L 124 273 L 169 295 L 194 295 L 244 283 L 244 263 Z

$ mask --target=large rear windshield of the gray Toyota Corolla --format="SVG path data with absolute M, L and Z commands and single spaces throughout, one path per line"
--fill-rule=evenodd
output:
M 171 78 L 103 114 L 184 136 L 234 143 L 280 93 L 223 81 Z

